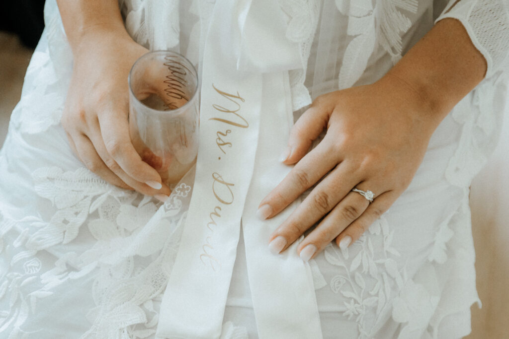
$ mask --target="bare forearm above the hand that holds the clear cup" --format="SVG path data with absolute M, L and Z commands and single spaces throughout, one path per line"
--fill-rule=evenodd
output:
M 73 52 L 88 33 L 127 36 L 117 0 L 57 0 Z

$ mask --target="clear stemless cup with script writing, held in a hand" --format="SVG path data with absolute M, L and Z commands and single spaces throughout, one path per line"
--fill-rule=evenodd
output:
M 198 87 L 196 70 L 175 52 L 149 52 L 129 73 L 131 140 L 167 184 L 177 183 L 196 161 Z

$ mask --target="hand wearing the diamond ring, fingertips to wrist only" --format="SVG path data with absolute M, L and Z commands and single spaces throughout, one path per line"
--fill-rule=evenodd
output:
M 334 239 L 341 248 L 353 243 L 408 187 L 438 123 L 428 102 L 397 76 L 318 97 L 290 133 L 283 162 L 296 165 L 262 200 L 259 217 L 274 217 L 321 181 L 272 233 L 269 249 L 284 251 L 322 218 L 297 248 L 303 260 Z M 354 188 L 372 191 L 374 201 Z

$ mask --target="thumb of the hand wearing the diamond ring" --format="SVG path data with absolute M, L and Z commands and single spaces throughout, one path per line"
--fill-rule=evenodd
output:
M 313 140 L 327 127 L 328 121 L 329 112 L 323 106 L 309 107 L 292 127 L 288 146 L 281 155 L 281 162 L 291 165 L 302 159 Z

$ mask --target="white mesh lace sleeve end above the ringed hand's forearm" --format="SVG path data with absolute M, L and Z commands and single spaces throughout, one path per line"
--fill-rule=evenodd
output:
M 486 58 L 486 78 L 509 66 L 509 3 L 506 0 L 450 0 L 435 20 L 461 21 L 474 46 Z

